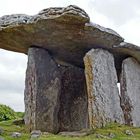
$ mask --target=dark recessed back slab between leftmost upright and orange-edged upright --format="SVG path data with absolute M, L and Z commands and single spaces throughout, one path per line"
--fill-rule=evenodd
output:
M 88 128 L 87 92 L 84 70 L 75 66 L 60 67 L 60 131 Z

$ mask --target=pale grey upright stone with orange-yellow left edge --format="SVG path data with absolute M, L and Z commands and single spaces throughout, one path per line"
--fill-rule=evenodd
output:
M 84 63 L 90 127 L 123 123 L 113 56 L 108 51 L 92 49 L 84 57 Z

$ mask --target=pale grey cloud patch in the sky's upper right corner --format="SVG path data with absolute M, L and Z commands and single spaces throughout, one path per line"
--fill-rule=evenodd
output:
M 102 13 L 115 24 L 125 24 L 139 16 L 139 0 L 91 0 L 95 10 Z

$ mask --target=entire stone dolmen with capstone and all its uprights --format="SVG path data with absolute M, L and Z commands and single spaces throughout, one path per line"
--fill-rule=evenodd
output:
M 112 122 L 140 127 L 140 47 L 90 22 L 83 9 L 2 16 L 0 48 L 28 55 L 24 119 L 30 131 Z

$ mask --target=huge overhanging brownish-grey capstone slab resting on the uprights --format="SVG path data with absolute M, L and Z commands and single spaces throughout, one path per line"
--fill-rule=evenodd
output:
M 0 18 L 0 48 L 26 53 L 31 46 L 46 48 L 54 59 L 83 67 L 91 48 L 111 49 L 123 41 L 115 31 L 90 23 L 77 6 L 48 8 L 34 16 Z

